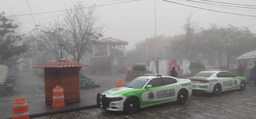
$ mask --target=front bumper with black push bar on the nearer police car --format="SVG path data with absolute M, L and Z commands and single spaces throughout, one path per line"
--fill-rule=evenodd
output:
M 120 101 L 111 101 L 110 97 L 106 95 L 97 94 L 97 106 L 103 110 L 109 111 L 123 111 L 124 110 L 124 98 Z

